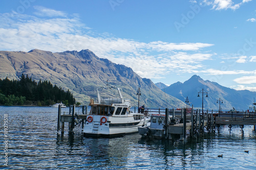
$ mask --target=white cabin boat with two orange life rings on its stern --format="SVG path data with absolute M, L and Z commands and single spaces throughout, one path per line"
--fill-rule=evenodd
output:
M 99 90 L 116 90 L 119 98 L 101 98 Z M 119 88 L 97 89 L 98 102 L 90 100 L 91 111 L 82 129 L 86 137 L 115 137 L 138 132 L 150 118 L 143 113 L 132 113 L 130 100 L 123 99 Z

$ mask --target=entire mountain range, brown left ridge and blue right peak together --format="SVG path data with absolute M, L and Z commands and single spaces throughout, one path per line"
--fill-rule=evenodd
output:
M 154 84 L 150 79 L 141 78 L 130 67 L 115 64 L 108 59 L 98 58 L 90 50 L 66 51 L 52 53 L 42 50 L 30 52 L 0 51 L 0 79 L 19 79 L 24 74 L 35 81 L 48 80 L 52 84 L 69 89 L 77 102 L 88 105 L 95 99 L 96 88 L 106 86 L 119 87 L 125 99 L 130 99 L 132 106 L 138 106 L 138 89 L 140 87 L 140 105 L 154 108 L 186 107 L 202 108 L 202 89 L 204 109 L 229 110 L 244 109 L 252 106 L 256 92 L 235 90 L 216 82 L 203 80 L 194 75 L 184 83 L 177 82 L 170 86 L 163 83 Z M 114 95 L 110 91 L 105 92 Z M 200 98 L 198 98 L 198 94 Z M 222 103 L 223 102 L 223 103 Z

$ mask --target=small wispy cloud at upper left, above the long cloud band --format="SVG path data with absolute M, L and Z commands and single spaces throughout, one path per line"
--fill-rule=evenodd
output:
M 49 17 L 56 17 L 56 16 L 66 17 L 67 16 L 67 14 L 62 11 L 56 11 L 56 10 L 45 8 L 42 6 L 34 6 L 34 9 L 37 10 L 36 12 L 34 12 L 34 14 L 38 16 L 49 16 Z

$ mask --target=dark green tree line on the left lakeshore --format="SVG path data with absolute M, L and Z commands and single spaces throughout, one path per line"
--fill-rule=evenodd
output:
M 38 105 L 48 106 L 62 102 L 65 105 L 76 103 L 73 94 L 50 81 L 35 82 L 24 74 L 20 80 L 0 79 L 0 105 Z

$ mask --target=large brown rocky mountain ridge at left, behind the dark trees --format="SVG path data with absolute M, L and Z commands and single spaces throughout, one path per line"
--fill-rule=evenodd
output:
M 89 104 L 96 98 L 96 88 L 111 86 L 121 89 L 123 97 L 138 106 L 137 90 L 140 87 L 140 103 L 146 107 L 180 108 L 183 101 L 166 95 L 150 79 L 142 79 L 132 68 L 98 58 L 90 50 L 52 53 L 41 50 L 30 52 L 0 51 L 0 78 L 18 79 L 22 74 L 35 81 L 48 80 L 52 84 L 73 93 L 77 102 Z

